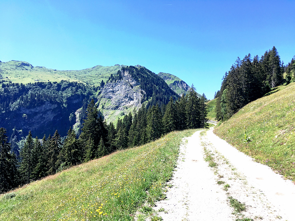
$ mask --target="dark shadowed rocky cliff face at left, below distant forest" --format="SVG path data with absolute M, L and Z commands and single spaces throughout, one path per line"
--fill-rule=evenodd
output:
M 9 110 L 1 114 L 0 125 L 5 125 L 9 133 L 15 127 L 27 136 L 32 131 L 33 136 L 42 138 L 46 133 L 53 134 L 58 130 L 61 136 L 66 136 L 68 129 L 75 123 L 73 117 L 78 108 L 82 106 L 83 96 L 73 95 L 68 98 L 68 106 L 65 108 L 58 103 L 46 101 L 34 108 L 19 107 L 17 110 Z

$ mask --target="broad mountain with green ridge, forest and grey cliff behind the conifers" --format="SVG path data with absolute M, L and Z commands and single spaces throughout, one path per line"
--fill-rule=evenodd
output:
M 15 142 L 30 130 L 39 138 L 56 129 L 65 136 L 70 126 L 79 133 L 92 98 L 108 123 L 142 104 L 178 98 L 160 75 L 140 65 L 55 70 L 12 60 L 0 62 L 0 84 L 0 127 Z

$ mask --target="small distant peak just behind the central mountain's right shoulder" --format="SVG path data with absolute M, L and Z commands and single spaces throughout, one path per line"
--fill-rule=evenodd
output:
M 169 73 L 158 73 L 158 76 L 162 77 L 165 82 L 169 85 L 169 87 L 174 90 L 178 95 L 183 95 L 188 92 L 189 85 L 187 85 L 183 80 L 175 75 L 171 75 Z M 198 94 L 201 97 L 200 94 Z

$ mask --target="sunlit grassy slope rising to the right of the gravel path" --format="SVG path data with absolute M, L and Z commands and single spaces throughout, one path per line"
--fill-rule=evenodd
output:
M 274 88 L 214 130 L 219 137 L 295 181 L 295 83 Z

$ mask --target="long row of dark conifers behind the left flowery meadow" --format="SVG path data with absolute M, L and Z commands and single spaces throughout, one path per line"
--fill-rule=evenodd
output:
M 69 128 L 65 140 L 56 130 L 40 140 L 31 131 L 17 157 L 11 152 L 6 129 L 0 128 L 0 193 L 50 174 L 105 156 L 117 150 L 146 144 L 175 130 L 207 127 L 207 102 L 195 88 L 167 105 L 145 105 L 118 119 L 115 127 L 104 121 L 92 99 L 87 106 L 80 136 Z

